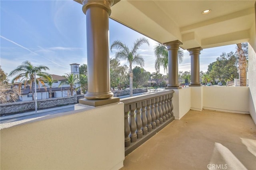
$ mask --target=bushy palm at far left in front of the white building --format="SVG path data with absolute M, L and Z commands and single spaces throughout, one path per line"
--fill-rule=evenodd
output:
M 19 65 L 16 69 L 12 70 L 8 76 L 16 75 L 12 79 L 12 83 L 20 80 L 19 91 L 21 89 L 22 83 L 24 83 L 24 88 L 26 88 L 26 84 L 28 83 L 30 85 L 30 91 L 32 91 L 32 84 L 34 85 L 33 82 L 36 75 L 47 79 L 49 74 L 43 72 L 46 70 L 49 70 L 49 68 L 44 65 L 33 66 L 29 61 L 24 61 L 22 62 L 22 65 Z M 36 84 L 38 84 L 38 88 L 40 88 L 39 82 L 44 85 L 43 79 L 36 78 Z M 34 100 L 34 90 L 32 91 L 32 100 Z

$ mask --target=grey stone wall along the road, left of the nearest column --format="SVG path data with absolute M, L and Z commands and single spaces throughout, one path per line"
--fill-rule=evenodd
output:
M 52 99 L 42 99 L 37 101 L 37 109 L 47 109 L 51 107 L 72 105 L 78 103 L 79 99 L 84 99 L 84 95 L 74 95 L 69 97 L 58 97 Z M 14 103 L 0 104 L 0 115 L 32 111 L 35 109 L 34 101 L 22 101 Z

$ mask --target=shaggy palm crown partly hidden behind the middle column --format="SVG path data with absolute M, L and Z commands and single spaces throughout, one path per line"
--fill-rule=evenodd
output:
M 154 47 L 154 53 L 156 55 L 156 61 L 155 61 L 155 69 L 156 71 L 160 71 L 160 66 L 164 67 L 164 72 L 168 71 L 168 51 L 165 45 L 158 43 Z M 182 63 L 184 58 L 184 51 L 183 49 L 178 50 L 178 60 L 179 64 Z

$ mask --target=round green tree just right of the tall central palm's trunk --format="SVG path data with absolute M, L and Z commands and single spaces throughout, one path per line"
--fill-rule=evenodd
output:
M 148 84 L 149 74 L 145 69 L 136 66 L 134 67 L 134 69 L 132 69 L 132 73 L 133 73 L 133 86 L 135 88 L 139 88 L 139 87 L 142 87 L 143 85 Z

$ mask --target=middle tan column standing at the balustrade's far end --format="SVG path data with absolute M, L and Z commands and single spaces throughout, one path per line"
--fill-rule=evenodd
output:
M 168 50 L 168 87 L 167 89 L 178 89 L 178 50 L 182 42 L 179 40 L 164 43 Z

